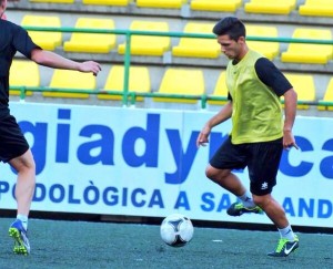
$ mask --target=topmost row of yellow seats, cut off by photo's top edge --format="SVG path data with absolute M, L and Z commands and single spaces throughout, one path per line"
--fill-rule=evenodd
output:
M 74 3 L 75 0 L 30 0 L 30 2 L 47 3 Z M 82 0 L 83 4 L 98 6 L 129 6 L 139 8 L 181 9 L 189 4 L 192 10 L 200 11 L 229 11 L 235 12 L 243 8 L 249 13 L 290 14 L 297 10 L 301 15 L 333 17 L 333 1 L 305 0 L 304 4 L 297 4 L 297 0 Z

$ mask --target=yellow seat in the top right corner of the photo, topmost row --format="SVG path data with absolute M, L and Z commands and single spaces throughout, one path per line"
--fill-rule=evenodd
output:
M 333 17 L 332 0 L 306 0 L 300 6 L 299 13 L 301 15 L 319 15 Z

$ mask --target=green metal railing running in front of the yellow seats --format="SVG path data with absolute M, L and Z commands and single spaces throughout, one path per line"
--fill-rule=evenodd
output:
M 209 100 L 212 101 L 228 101 L 222 96 L 189 95 L 189 94 L 162 94 L 162 93 L 141 93 L 129 91 L 129 77 L 131 65 L 131 38 L 132 35 L 153 35 L 153 37 L 170 37 L 170 38 L 201 38 L 201 39 L 215 39 L 214 34 L 204 33 L 184 33 L 184 32 L 159 32 L 159 31 L 134 31 L 134 30 L 120 30 L 120 29 L 83 29 L 83 28 L 50 28 L 50 27 L 24 27 L 28 31 L 44 31 L 44 32 L 80 32 L 80 33 L 105 33 L 105 34 L 122 34 L 125 35 L 125 51 L 124 51 L 124 80 L 123 91 L 105 91 L 105 90 L 84 90 L 84 89 L 51 89 L 51 87 L 32 87 L 32 86 L 11 86 L 10 90 L 20 91 L 20 99 L 24 100 L 27 91 L 32 92 L 62 92 L 62 93 L 88 93 L 88 94 L 109 94 L 121 95 L 122 105 L 135 104 L 135 97 L 165 97 L 165 99 L 185 99 L 185 100 L 200 100 L 201 107 L 205 108 Z M 263 41 L 263 42 L 279 42 L 279 43 L 311 43 L 311 44 L 332 44 L 333 40 L 313 40 L 313 39 L 293 39 L 293 38 L 268 38 L 268 37 L 246 37 L 248 41 Z M 281 101 L 283 103 L 283 101 Z M 319 105 L 319 106 L 333 106 L 333 102 L 326 101 L 297 101 L 299 105 Z

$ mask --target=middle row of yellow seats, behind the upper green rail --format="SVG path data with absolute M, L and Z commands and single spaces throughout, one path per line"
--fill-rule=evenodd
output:
M 332 1 L 333 2 L 333 1 Z M 23 27 L 61 27 L 60 17 L 57 15 L 33 15 L 23 17 Z M 209 33 L 211 34 L 213 23 L 188 22 L 183 29 L 184 33 Z M 78 18 L 74 28 L 114 30 L 113 19 Z M 169 32 L 169 24 L 165 21 L 133 20 L 130 30 L 148 30 L 158 32 Z M 248 35 L 278 38 L 278 27 L 246 25 Z M 54 50 L 62 46 L 65 52 L 84 53 L 109 53 L 112 50 L 124 54 L 125 44 L 117 44 L 117 35 L 110 33 L 80 33 L 71 34 L 70 40 L 63 41 L 61 32 L 29 31 L 31 38 L 43 49 Z M 331 29 L 317 28 L 295 28 L 292 34 L 294 39 L 307 40 L 331 40 Z M 95 42 L 91 42 L 94 40 Z M 118 48 L 117 48 L 118 45 Z M 316 63 L 326 64 L 333 58 L 333 44 L 305 44 L 291 43 L 286 51 L 281 51 L 279 42 L 249 41 L 249 46 L 261 52 L 270 60 L 276 56 L 282 62 L 291 63 Z M 162 56 L 171 51 L 173 56 L 180 58 L 206 58 L 216 59 L 220 56 L 220 46 L 214 39 L 180 38 L 179 44 L 172 46 L 170 37 L 133 35 L 131 40 L 131 54 Z

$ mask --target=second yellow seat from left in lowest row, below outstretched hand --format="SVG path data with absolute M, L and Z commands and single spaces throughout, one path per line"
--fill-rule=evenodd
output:
M 71 93 L 70 90 L 95 90 L 95 76 L 91 73 L 58 69 L 54 70 L 49 86 L 69 92 L 44 91 L 42 95 L 46 97 L 88 99 L 88 93 Z

